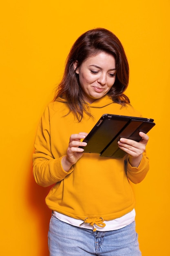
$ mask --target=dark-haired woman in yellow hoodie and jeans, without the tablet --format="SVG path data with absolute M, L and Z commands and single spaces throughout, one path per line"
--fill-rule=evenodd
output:
M 55 99 L 44 111 L 33 155 L 33 175 L 52 210 L 50 256 L 139 256 L 135 199 L 129 180 L 149 170 L 141 141 L 121 138 L 124 158 L 83 153 L 82 140 L 105 114 L 139 116 L 124 91 L 128 61 L 119 39 L 103 28 L 82 34 L 68 55 Z

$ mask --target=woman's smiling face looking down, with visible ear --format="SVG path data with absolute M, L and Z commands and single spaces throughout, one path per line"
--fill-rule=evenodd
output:
M 77 67 L 77 63 L 74 63 Z M 115 83 L 116 63 L 113 55 L 100 52 L 87 58 L 76 73 L 79 74 L 79 83 L 88 103 L 102 98 Z

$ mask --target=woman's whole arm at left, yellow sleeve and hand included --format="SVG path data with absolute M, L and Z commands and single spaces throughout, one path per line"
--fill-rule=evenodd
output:
M 80 139 L 85 137 L 84 134 L 77 135 L 77 140 L 75 135 L 71 135 L 67 155 L 54 157 L 51 151 L 50 114 L 46 108 L 38 126 L 33 154 L 33 176 L 39 185 L 50 186 L 60 182 L 73 171 L 73 164 L 83 155 L 83 150 L 78 146 L 83 146 Z M 76 150 L 77 155 L 74 153 Z

